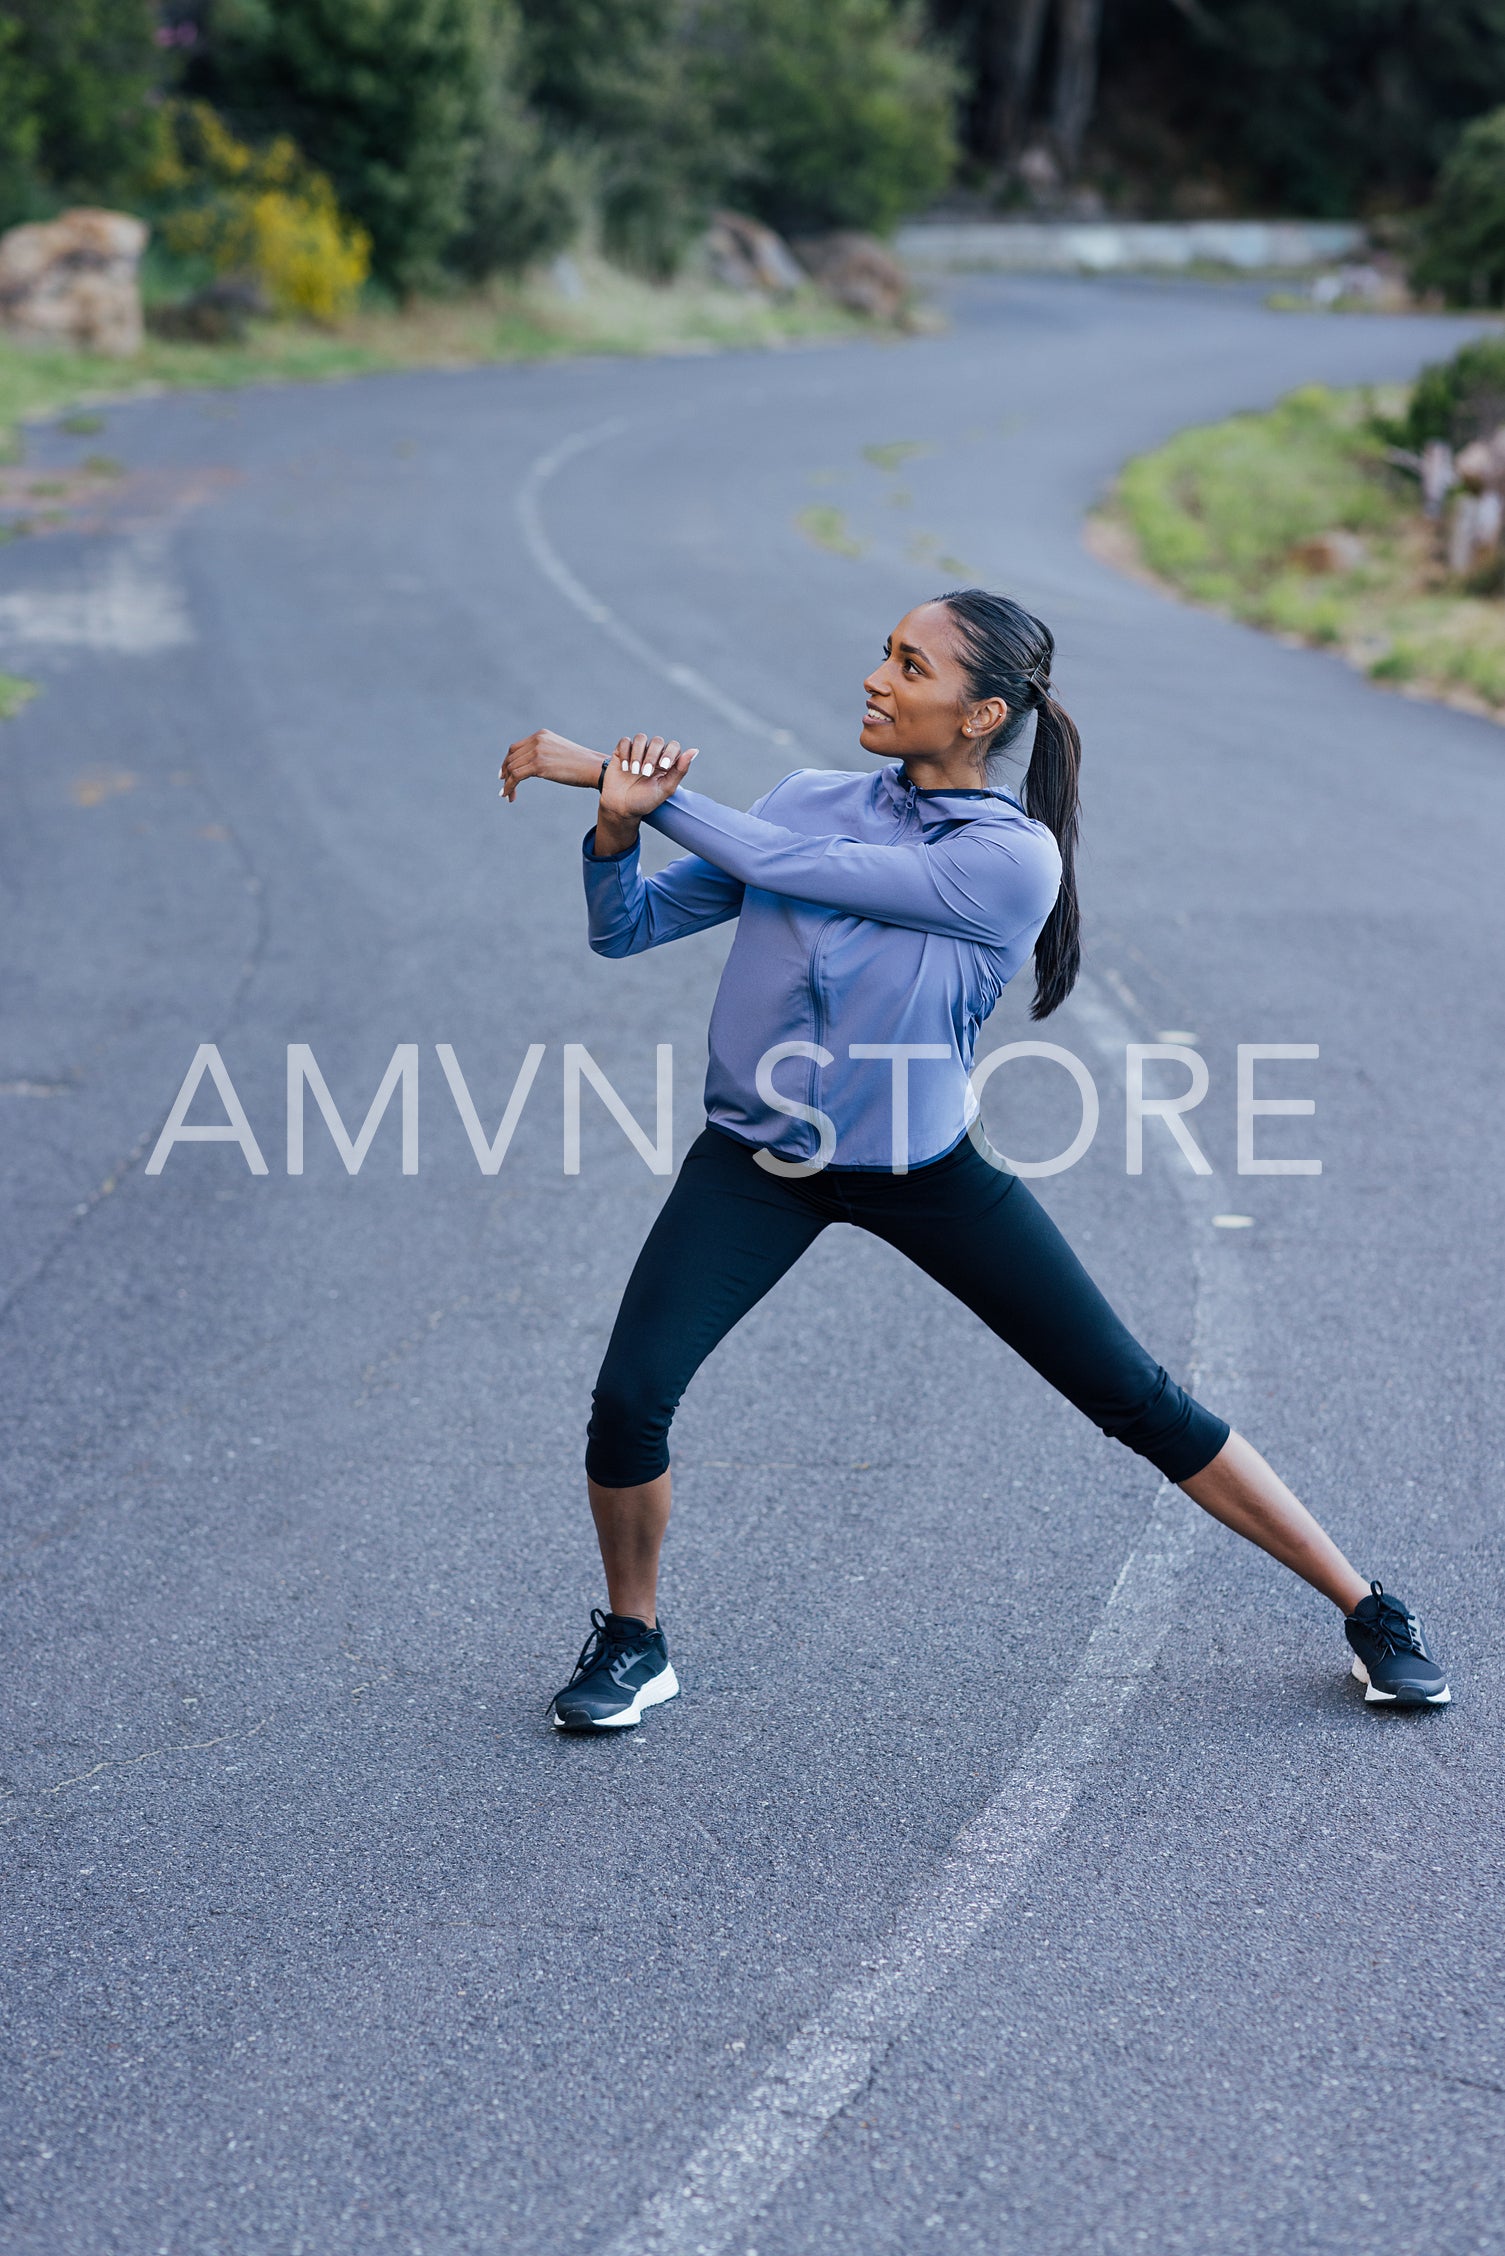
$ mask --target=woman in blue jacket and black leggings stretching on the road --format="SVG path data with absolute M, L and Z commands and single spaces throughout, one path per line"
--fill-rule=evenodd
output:
M 639 1254 L 596 1383 L 584 1462 L 609 1611 L 591 1613 L 553 1699 L 562 1730 L 621 1730 L 677 1694 L 657 1618 L 670 1419 L 711 1349 L 828 1223 L 896 1245 L 1103 1433 L 1322 1590 L 1367 1701 L 1451 1697 L 1415 1615 L 1139 1347 L 972 1130 L 968 1072 L 988 1011 L 1033 957 L 1033 1017 L 1047 1017 L 1081 959 L 1081 740 L 1051 697 L 1051 654 L 1049 629 L 1004 596 L 921 605 L 864 684 L 878 774 L 801 769 L 749 814 L 686 790 L 695 751 L 657 735 L 623 738 L 614 758 L 551 731 L 508 751 L 508 801 L 528 776 L 600 794 L 584 841 L 598 954 L 738 918 L 711 1015 L 709 1126 Z M 991 778 L 1031 717 L 1015 801 Z M 645 821 L 688 848 L 648 880 Z

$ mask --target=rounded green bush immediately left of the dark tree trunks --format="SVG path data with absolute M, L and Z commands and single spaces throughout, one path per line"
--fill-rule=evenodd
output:
M 706 25 L 715 115 L 742 201 L 785 235 L 887 232 L 957 160 L 952 65 L 891 0 L 722 0 Z

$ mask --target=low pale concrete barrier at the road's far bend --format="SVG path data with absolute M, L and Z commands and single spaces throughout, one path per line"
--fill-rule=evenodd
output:
M 1363 241 L 1363 228 L 1338 219 L 936 219 L 900 228 L 894 248 L 914 273 L 1259 273 L 1324 266 Z

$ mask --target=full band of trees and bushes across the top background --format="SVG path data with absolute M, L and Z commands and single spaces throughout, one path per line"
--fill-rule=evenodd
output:
M 718 205 L 887 230 L 959 138 L 988 196 L 1054 162 L 1144 212 L 1415 210 L 1442 174 L 1424 275 L 1505 300 L 1505 0 L 2 0 L 0 226 L 156 219 L 178 97 L 291 142 L 402 293 L 582 226 L 670 273 Z

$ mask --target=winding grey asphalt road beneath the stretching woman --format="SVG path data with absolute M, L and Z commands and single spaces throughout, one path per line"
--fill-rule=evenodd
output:
M 954 300 L 903 347 L 36 438 L 129 478 L 0 555 L 45 686 L 0 731 L 5 2249 L 1505 2247 L 1505 735 L 1081 546 L 1128 453 L 1458 329 Z M 672 1045 L 684 1151 L 724 934 L 596 961 L 587 801 L 505 808 L 499 754 L 659 726 L 736 803 L 862 765 L 862 672 L 961 566 L 1051 620 L 1088 747 L 1090 981 L 1045 1031 L 1103 1117 L 1040 1196 L 1424 1611 L 1444 1715 L 1365 1710 L 1322 1600 L 830 1232 L 679 1421 L 684 1699 L 546 1726 L 666 1189 L 589 1087 L 562 1171 L 564 1045 L 648 1130 Z M 1121 1045 L 1169 1031 L 1214 1178 L 1155 1126 L 1126 1175 Z M 144 1171 L 201 1042 L 264 1175 Z M 309 1103 L 287 1173 L 296 1042 L 352 1130 L 417 1045 L 415 1175 L 397 1103 L 354 1178 Z M 487 1137 L 546 1045 L 494 1175 L 440 1042 Z M 1320 1045 L 1259 1083 L 1315 1117 L 1257 1123 L 1320 1175 L 1236 1173 L 1239 1042 Z M 988 1121 L 1045 1155 L 1076 1092 L 1013 1065 Z

